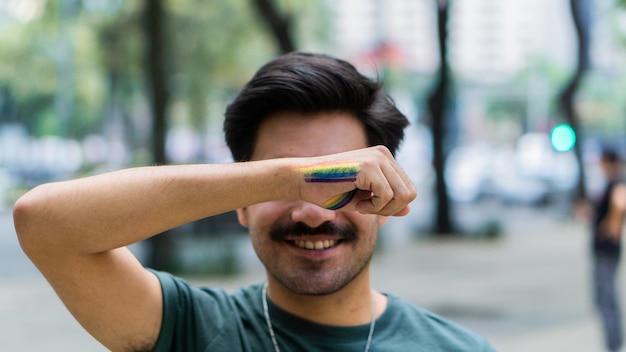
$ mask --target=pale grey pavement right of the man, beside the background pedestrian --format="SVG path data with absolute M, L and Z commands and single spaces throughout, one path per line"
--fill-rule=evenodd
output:
M 603 351 L 586 225 L 522 212 L 506 233 L 394 248 L 375 261 L 375 286 L 469 327 L 498 351 Z

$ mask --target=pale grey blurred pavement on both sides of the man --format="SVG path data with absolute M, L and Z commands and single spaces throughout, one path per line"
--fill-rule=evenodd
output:
M 513 213 L 496 241 L 385 242 L 374 257 L 374 287 L 465 325 L 499 351 L 601 352 L 585 225 L 541 210 Z M 233 289 L 262 280 L 252 249 L 243 250 L 244 274 L 198 283 Z M 0 350 L 105 351 L 39 275 L 0 282 Z

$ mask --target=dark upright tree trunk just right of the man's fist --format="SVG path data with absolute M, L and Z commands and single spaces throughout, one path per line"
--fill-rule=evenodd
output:
M 428 108 L 430 111 L 430 127 L 433 135 L 433 167 L 436 175 L 436 197 L 437 208 L 435 213 L 434 233 L 438 235 L 452 234 L 454 226 L 450 216 L 450 198 L 448 187 L 444 175 L 446 163 L 446 151 L 444 140 L 447 127 L 446 105 L 449 101 L 450 75 L 448 70 L 447 23 L 448 23 L 448 3 L 447 1 L 437 1 L 437 37 L 439 39 L 439 72 L 435 89 L 428 98 Z

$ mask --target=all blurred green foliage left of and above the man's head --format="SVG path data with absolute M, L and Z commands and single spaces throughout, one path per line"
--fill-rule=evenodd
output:
M 145 111 L 145 33 L 143 6 L 150 0 L 125 0 L 116 13 L 62 12 L 61 0 L 47 1 L 43 14 L 28 23 L 11 21 L 0 30 L 0 94 L 15 116 L 35 135 L 98 132 L 111 107 L 130 116 L 128 128 Z M 250 0 L 167 0 L 166 46 L 171 118 L 204 128 L 211 100 L 220 104 L 278 51 Z M 328 26 L 314 0 L 277 2 L 293 19 L 298 46 L 318 50 Z M 62 50 L 63 42 L 70 44 Z M 69 53 L 70 60 L 61 57 Z M 69 64 L 67 64 L 69 62 Z M 67 76 L 62 64 L 69 65 Z M 58 112 L 59 87 L 70 79 L 72 116 Z M 67 85 L 65 85 L 67 86 Z M 63 95 L 62 94 L 62 95 Z M 215 112 L 213 112 L 215 114 Z M 139 120 L 138 120 L 139 119 Z M 2 122 L 2 117 L 0 117 Z M 69 122 L 69 126 L 63 126 Z M 137 137 L 137 136 L 135 136 Z

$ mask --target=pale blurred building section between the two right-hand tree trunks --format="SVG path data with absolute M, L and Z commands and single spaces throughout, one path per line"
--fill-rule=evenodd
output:
M 463 0 L 451 8 L 453 67 L 472 80 L 502 80 L 545 59 L 573 63 L 567 0 Z

